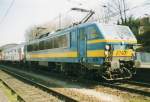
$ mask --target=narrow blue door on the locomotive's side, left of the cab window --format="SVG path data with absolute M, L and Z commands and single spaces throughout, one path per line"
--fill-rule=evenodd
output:
M 86 31 L 84 28 L 79 28 L 78 32 L 78 52 L 80 61 L 86 62 Z

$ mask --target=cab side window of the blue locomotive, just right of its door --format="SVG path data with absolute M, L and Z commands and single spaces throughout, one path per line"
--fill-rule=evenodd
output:
M 95 39 L 98 37 L 98 33 L 95 26 L 90 26 L 86 30 L 88 39 Z

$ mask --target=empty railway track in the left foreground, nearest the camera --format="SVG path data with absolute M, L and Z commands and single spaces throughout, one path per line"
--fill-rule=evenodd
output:
M 14 77 L 6 74 L 4 71 Z M 23 82 L 15 77 L 23 80 Z M 25 77 L 6 69 L 0 71 L 0 78 L 1 81 L 13 91 L 13 93 L 17 94 L 19 102 L 77 102 L 75 99 L 54 90 L 50 90 L 46 86 L 26 79 Z

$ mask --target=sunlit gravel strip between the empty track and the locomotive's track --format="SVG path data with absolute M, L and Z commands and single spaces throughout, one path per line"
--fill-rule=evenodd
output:
M 37 77 L 36 74 L 32 75 Z M 91 97 L 91 101 L 93 101 L 92 98 L 94 98 L 95 101 L 99 100 L 101 102 L 150 102 L 150 97 L 123 92 L 100 85 L 85 88 L 82 85 L 72 84 L 55 78 L 45 77 L 42 75 L 38 75 L 38 77 L 48 83 L 53 83 L 58 87 L 74 90 L 73 92 L 77 93 L 77 95 Z

